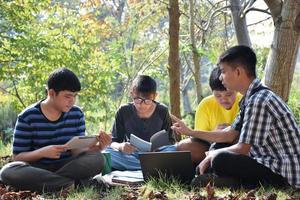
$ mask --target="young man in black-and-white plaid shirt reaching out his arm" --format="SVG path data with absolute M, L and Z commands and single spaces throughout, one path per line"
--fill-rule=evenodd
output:
M 223 85 L 244 96 L 231 129 L 193 131 L 180 120 L 173 129 L 208 141 L 239 139 L 230 147 L 209 151 L 194 183 L 203 185 L 210 168 L 219 186 L 220 177 L 231 177 L 245 187 L 300 188 L 300 129 L 285 102 L 256 78 L 255 53 L 247 46 L 232 47 L 220 57 L 219 66 Z

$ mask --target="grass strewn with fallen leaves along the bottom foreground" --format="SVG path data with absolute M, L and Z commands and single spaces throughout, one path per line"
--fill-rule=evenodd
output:
M 286 191 L 274 188 L 258 188 L 256 190 L 236 190 L 201 188 L 188 189 L 176 182 L 165 183 L 163 181 L 150 181 L 139 187 L 114 187 L 109 192 L 96 192 L 86 189 L 77 191 L 67 199 L 105 199 L 105 200 L 134 200 L 134 199 L 180 199 L 180 200 L 200 200 L 200 199 L 244 199 L 244 200 L 274 200 L 290 199 L 299 200 L 300 191 L 289 189 Z

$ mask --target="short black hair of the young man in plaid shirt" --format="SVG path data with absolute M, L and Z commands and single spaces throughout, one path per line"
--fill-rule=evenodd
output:
M 228 63 L 230 67 L 243 67 L 249 77 L 256 77 L 256 55 L 254 51 L 244 45 L 237 45 L 225 51 L 219 58 L 220 63 Z

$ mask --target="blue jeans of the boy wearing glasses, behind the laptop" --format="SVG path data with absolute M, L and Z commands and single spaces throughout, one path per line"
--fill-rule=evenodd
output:
M 172 152 L 176 151 L 176 145 L 167 145 L 160 147 L 158 151 L 160 152 Z M 107 147 L 104 152 L 109 152 L 111 155 L 111 166 L 115 170 L 141 170 L 141 163 L 139 160 L 139 151 L 132 154 L 126 154 L 115 150 L 111 147 Z

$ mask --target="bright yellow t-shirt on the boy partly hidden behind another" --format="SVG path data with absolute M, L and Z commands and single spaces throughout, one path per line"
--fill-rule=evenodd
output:
M 195 116 L 195 130 L 212 131 L 219 124 L 232 124 L 239 112 L 239 101 L 242 95 L 237 94 L 230 110 L 221 106 L 214 95 L 205 97 L 197 107 Z

